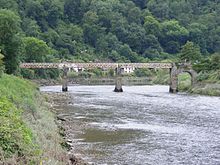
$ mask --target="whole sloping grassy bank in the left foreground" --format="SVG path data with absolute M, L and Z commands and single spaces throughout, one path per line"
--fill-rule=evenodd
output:
M 0 162 L 66 164 L 54 118 L 35 84 L 4 74 L 0 78 Z

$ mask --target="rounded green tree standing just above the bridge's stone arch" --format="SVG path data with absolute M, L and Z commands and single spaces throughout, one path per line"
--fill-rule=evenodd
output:
M 197 62 L 201 59 L 200 48 L 193 42 L 187 42 L 181 49 L 180 59 L 186 62 Z

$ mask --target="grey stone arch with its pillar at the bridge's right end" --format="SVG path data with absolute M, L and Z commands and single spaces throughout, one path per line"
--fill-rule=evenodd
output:
M 181 73 L 189 73 L 191 76 L 191 85 L 195 86 L 197 73 L 193 70 L 191 65 L 182 65 L 177 68 L 176 65 L 173 66 L 170 72 L 170 92 L 177 93 L 178 92 L 178 76 Z

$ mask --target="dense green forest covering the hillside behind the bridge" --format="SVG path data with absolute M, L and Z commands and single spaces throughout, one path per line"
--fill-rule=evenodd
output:
M 0 4 L 0 50 L 10 74 L 35 74 L 21 71 L 20 62 L 187 60 L 197 71 L 220 68 L 219 1 L 0 0 Z M 45 77 L 56 76 L 47 72 Z

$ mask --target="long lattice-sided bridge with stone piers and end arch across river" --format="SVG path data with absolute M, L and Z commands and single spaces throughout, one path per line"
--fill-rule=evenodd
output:
M 124 68 L 133 69 L 169 69 L 170 70 L 170 92 L 178 92 L 178 75 L 187 72 L 191 76 L 192 85 L 196 83 L 196 72 L 191 64 L 182 63 L 21 63 L 20 68 L 26 69 L 60 69 L 63 70 L 62 91 L 68 91 L 67 73 L 71 69 L 114 69 L 116 72 L 115 92 L 123 92 L 122 72 Z

